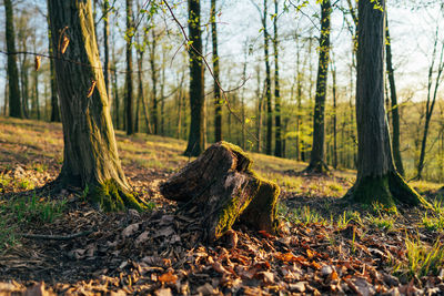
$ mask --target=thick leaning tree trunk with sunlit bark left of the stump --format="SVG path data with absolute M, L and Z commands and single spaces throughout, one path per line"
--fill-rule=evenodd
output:
M 89 198 L 107 210 L 141 208 L 118 155 L 91 1 L 49 0 L 49 17 L 64 140 L 57 183 L 88 188 Z

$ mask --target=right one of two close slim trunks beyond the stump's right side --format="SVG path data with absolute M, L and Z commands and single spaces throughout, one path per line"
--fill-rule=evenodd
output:
M 282 127 L 281 127 L 281 93 L 279 86 L 279 41 L 278 41 L 278 0 L 274 0 L 274 19 L 273 19 L 273 50 L 274 50 L 274 125 L 275 125 L 275 142 L 274 155 L 282 156 Z

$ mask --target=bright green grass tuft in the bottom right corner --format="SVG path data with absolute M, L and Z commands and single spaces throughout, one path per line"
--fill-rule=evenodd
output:
M 444 247 L 440 241 L 432 246 L 416 239 L 405 238 L 406 262 L 394 267 L 394 274 L 401 277 L 421 278 L 428 275 L 438 275 L 444 266 Z

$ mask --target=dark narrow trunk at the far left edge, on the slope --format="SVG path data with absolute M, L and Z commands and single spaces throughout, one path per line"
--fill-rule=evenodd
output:
M 13 8 L 11 0 L 3 0 L 6 11 L 6 35 L 8 54 L 8 85 L 9 85 L 9 115 L 21 118 L 21 102 L 19 90 L 19 70 L 16 55 L 16 32 L 13 25 Z

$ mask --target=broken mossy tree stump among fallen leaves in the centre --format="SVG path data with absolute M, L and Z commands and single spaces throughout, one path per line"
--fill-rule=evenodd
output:
M 242 149 L 219 142 L 171 176 L 160 191 L 181 208 L 198 213 L 208 242 L 221 237 L 236 221 L 275 233 L 280 187 L 260 177 L 251 166 Z

